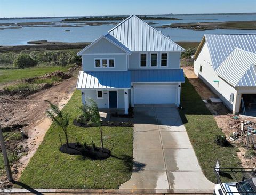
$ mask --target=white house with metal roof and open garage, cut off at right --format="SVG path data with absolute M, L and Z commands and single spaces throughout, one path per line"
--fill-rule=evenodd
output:
M 256 34 L 204 35 L 194 72 L 233 111 L 256 108 Z

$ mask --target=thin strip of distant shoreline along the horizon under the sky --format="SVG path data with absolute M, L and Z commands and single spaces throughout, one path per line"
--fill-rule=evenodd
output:
M 161 16 L 161 15 L 253 15 L 256 12 L 249 12 L 249 13 L 187 13 L 187 14 L 151 14 L 151 16 Z M 107 15 L 108 17 L 125 17 L 125 15 Z M 145 15 L 150 16 L 150 15 Z M 99 15 L 99 16 L 58 16 L 58 17 L 2 17 L 0 20 L 19 20 L 19 19 L 47 19 L 47 18 L 81 18 L 81 17 L 106 17 L 106 15 Z

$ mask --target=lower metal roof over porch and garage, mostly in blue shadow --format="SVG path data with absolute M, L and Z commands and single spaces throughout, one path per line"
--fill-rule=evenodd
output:
M 185 82 L 182 69 L 80 71 L 77 89 L 131 88 L 131 82 Z

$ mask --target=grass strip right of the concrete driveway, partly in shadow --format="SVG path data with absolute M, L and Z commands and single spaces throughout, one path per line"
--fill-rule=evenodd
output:
M 180 116 L 205 176 L 217 181 L 213 172 L 217 159 L 221 167 L 241 167 L 237 148 L 220 147 L 214 142 L 216 135 L 224 134 L 187 78 L 181 86 L 181 105 L 184 109 Z

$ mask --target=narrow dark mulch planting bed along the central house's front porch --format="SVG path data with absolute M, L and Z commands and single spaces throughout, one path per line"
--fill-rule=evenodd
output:
M 95 127 L 95 125 L 88 125 L 87 123 L 81 123 L 77 121 L 76 119 L 73 121 L 73 124 L 78 126 L 78 127 Z M 102 121 L 101 122 L 102 126 L 107 126 L 107 127 L 133 127 L 133 123 L 130 122 L 118 122 L 118 121 Z

